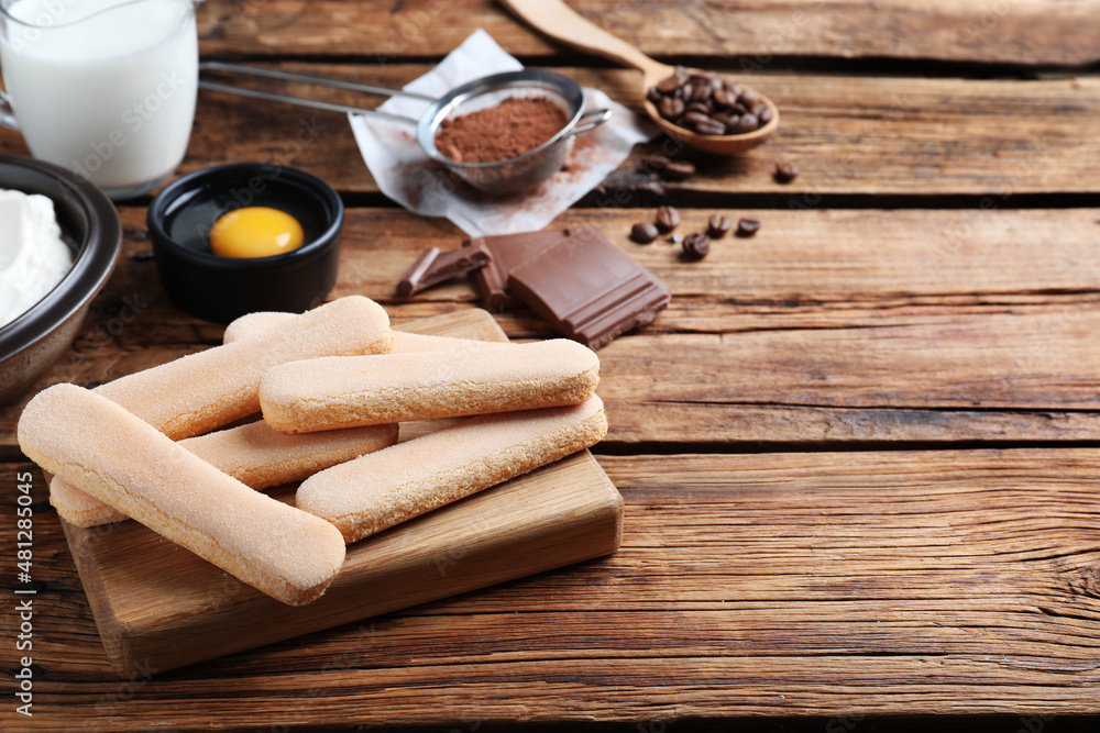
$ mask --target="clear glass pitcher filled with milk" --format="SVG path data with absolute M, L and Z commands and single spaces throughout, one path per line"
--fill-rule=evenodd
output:
M 196 0 L 0 0 L 0 124 L 112 199 L 184 158 L 198 90 Z M 2 95 L 2 92 L 0 92 Z

